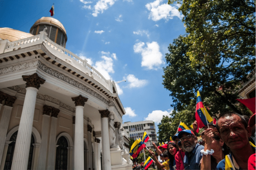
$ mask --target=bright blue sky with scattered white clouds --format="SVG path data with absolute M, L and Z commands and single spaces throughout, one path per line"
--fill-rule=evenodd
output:
M 66 48 L 86 59 L 117 84 L 126 110 L 123 121 L 157 124 L 173 110 L 163 88 L 169 43 L 185 34 L 178 5 L 167 0 L 55 0 L 0 2 L 0 28 L 29 32 L 41 17 L 54 18 L 67 31 Z

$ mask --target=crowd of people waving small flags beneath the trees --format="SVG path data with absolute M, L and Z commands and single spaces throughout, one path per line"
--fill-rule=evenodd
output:
M 193 130 L 178 132 L 168 144 L 157 147 L 152 142 L 160 159 L 149 153 L 161 170 L 255 170 L 255 124 L 255 113 L 246 117 L 229 112 L 197 134 L 195 121 Z

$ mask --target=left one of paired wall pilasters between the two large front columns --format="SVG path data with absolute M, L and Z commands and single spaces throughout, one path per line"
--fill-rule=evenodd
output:
M 43 120 L 42 120 L 42 140 L 39 151 L 39 159 L 37 169 L 45 169 L 46 158 L 47 158 L 47 147 L 48 147 L 48 134 L 50 125 L 50 113 L 53 107 L 44 105 L 43 106 Z

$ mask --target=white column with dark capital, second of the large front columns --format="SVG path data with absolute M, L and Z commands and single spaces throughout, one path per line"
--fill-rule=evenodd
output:
M 74 170 L 84 169 L 84 104 L 88 98 L 79 95 L 72 97 L 76 105 L 76 124 L 74 130 Z

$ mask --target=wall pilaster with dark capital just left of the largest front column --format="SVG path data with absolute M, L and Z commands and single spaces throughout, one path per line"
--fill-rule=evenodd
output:
M 14 104 L 16 99 L 17 98 L 14 96 L 9 96 L 8 94 L 5 94 L 5 105 L 3 106 L 3 113 L 0 120 L 0 160 L 2 160 L 3 148 L 5 147 L 5 138 L 12 112 L 12 105 Z

